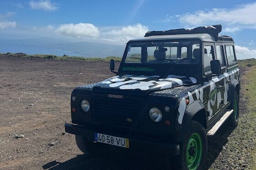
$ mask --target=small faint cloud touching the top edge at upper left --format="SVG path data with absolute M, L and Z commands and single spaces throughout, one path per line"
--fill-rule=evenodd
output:
M 30 8 L 34 10 L 49 10 L 54 11 L 57 10 L 58 7 L 56 4 L 52 3 L 48 0 L 40 0 L 40 1 L 30 1 Z

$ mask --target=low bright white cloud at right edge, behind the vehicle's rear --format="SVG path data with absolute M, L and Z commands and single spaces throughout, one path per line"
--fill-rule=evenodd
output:
M 256 58 L 256 50 L 250 50 L 247 47 L 235 46 L 235 51 L 238 60 Z

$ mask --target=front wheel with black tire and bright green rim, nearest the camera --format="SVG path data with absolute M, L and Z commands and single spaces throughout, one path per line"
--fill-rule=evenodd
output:
M 207 150 L 208 143 L 204 127 L 197 121 L 191 121 L 185 140 L 180 144 L 180 155 L 176 160 L 177 168 L 204 169 Z

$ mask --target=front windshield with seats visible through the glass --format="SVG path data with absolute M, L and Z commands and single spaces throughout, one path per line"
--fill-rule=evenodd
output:
M 197 64 L 199 41 L 130 42 L 124 63 Z

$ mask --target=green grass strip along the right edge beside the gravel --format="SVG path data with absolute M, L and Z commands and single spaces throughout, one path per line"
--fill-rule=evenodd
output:
M 251 127 L 251 138 L 254 138 L 252 140 L 252 144 L 255 142 L 255 127 L 256 127 L 256 66 L 251 67 L 249 70 L 247 70 L 246 74 L 244 75 L 243 80 L 246 81 L 244 83 L 244 97 L 247 98 L 248 102 L 246 103 L 246 107 L 248 109 L 248 124 L 247 127 Z M 249 140 L 249 139 L 248 139 Z M 254 143 L 255 144 L 255 143 Z M 252 146 L 252 149 L 249 150 L 250 155 L 253 157 L 252 162 L 252 169 L 256 169 L 256 147 L 255 145 Z

